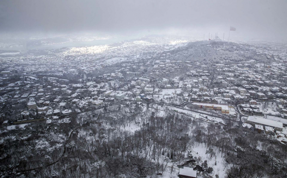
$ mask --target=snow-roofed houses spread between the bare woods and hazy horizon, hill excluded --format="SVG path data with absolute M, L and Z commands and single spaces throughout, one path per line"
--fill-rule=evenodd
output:
M 261 59 L 228 61 L 228 56 L 224 56 L 216 64 L 203 64 L 193 58 L 177 60 L 173 45 L 140 41 L 113 44 L 104 50 L 85 47 L 59 49 L 44 55 L 16 55 L 3 59 L 0 66 L 0 103 L 24 102 L 28 111 L 45 113 L 41 117 L 51 118 L 59 109 L 55 106 L 63 103 L 82 110 L 90 105 L 102 107 L 114 100 L 141 102 L 162 90 L 174 89 L 180 90 L 174 94 L 199 109 L 229 114 L 233 105 L 242 114 L 263 116 L 258 103 L 271 101 L 282 114 L 287 114 L 284 51 L 277 49 L 273 54 L 269 47 L 243 46 Z M 94 53 L 98 50 L 101 52 Z M 266 55 L 267 52 L 272 55 Z M 268 65 L 262 62 L 264 59 L 268 59 Z M 33 65 L 27 65 L 29 62 Z M 61 116 L 56 112 L 59 120 L 62 112 Z

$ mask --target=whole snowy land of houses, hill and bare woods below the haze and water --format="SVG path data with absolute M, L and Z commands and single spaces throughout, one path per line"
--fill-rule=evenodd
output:
M 0 60 L 3 178 L 287 176 L 286 44 L 146 36 Z

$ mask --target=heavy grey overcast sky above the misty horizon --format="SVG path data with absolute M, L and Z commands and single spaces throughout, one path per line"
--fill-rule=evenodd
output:
M 0 32 L 170 31 L 287 37 L 287 0 L 1 0 Z M 233 33 L 233 32 L 232 32 Z M 192 34 L 191 34 L 192 35 Z

